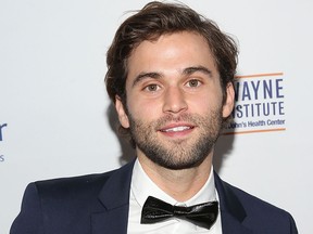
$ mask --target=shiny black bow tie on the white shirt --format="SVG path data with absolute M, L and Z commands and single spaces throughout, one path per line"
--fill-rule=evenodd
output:
M 216 221 L 218 203 L 203 203 L 190 207 L 172 206 L 155 197 L 149 196 L 141 212 L 141 223 L 155 223 L 172 217 L 187 220 L 196 225 L 211 229 Z

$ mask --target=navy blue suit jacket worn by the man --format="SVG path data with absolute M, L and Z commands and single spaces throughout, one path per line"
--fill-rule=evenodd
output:
M 133 166 L 30 183 L 10 234 L 126 234 Z M 214 177 L 223 234 L 298 233 L 288 212 Z

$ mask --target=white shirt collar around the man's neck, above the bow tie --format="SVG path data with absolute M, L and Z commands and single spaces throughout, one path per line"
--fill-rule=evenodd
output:
M 209 179 L 203 185 L 203 187 L 189 200 L 186 200 L 185 203 L 178 203 L 173 197 L 167 195 L 164 191 L 162 191 L 155 183 L 153 183 L 153 181 L 143 171 L 139 160 L 137 159 L 134 165 L 130 191 L 135 199 L 141 207 L 143 206 L 148 196 L 154 196 L 171 205 L 186 206 L 192 206 L 196 204 L 216 200 L 213 167 L 211 169 Z

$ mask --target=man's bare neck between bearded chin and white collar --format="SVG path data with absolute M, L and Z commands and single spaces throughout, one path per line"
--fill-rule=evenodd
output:
M 211 153 L 199 166 L 190 169 L 171 170 L 155 165 L 143 155 L 138 160 L 148 177 L 177 202 L 186 202 L 205 184 L 212 169 Z

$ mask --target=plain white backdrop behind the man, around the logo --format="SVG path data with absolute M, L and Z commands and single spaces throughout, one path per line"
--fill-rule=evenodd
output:
M 104 91 L 105 52 L 125 11 L 147 2 L 0 0 L 1 234 L 29 182 L 103 172 L 125 159 Z M 312 1 L 183 2 L 237 38 L 239 75 L 284 74 L 286 130 L 222 136 L 215 167 L 312 233 Z

